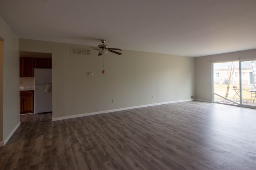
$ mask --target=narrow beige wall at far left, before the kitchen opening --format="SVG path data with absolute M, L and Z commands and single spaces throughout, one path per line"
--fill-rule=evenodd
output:
M 2 80 L 2 136 L 3 141 L 20 122 L 19 103 L 19 51 L 18 37 L 8 24 L 0 18 L 0 37 L 4 39 Z

